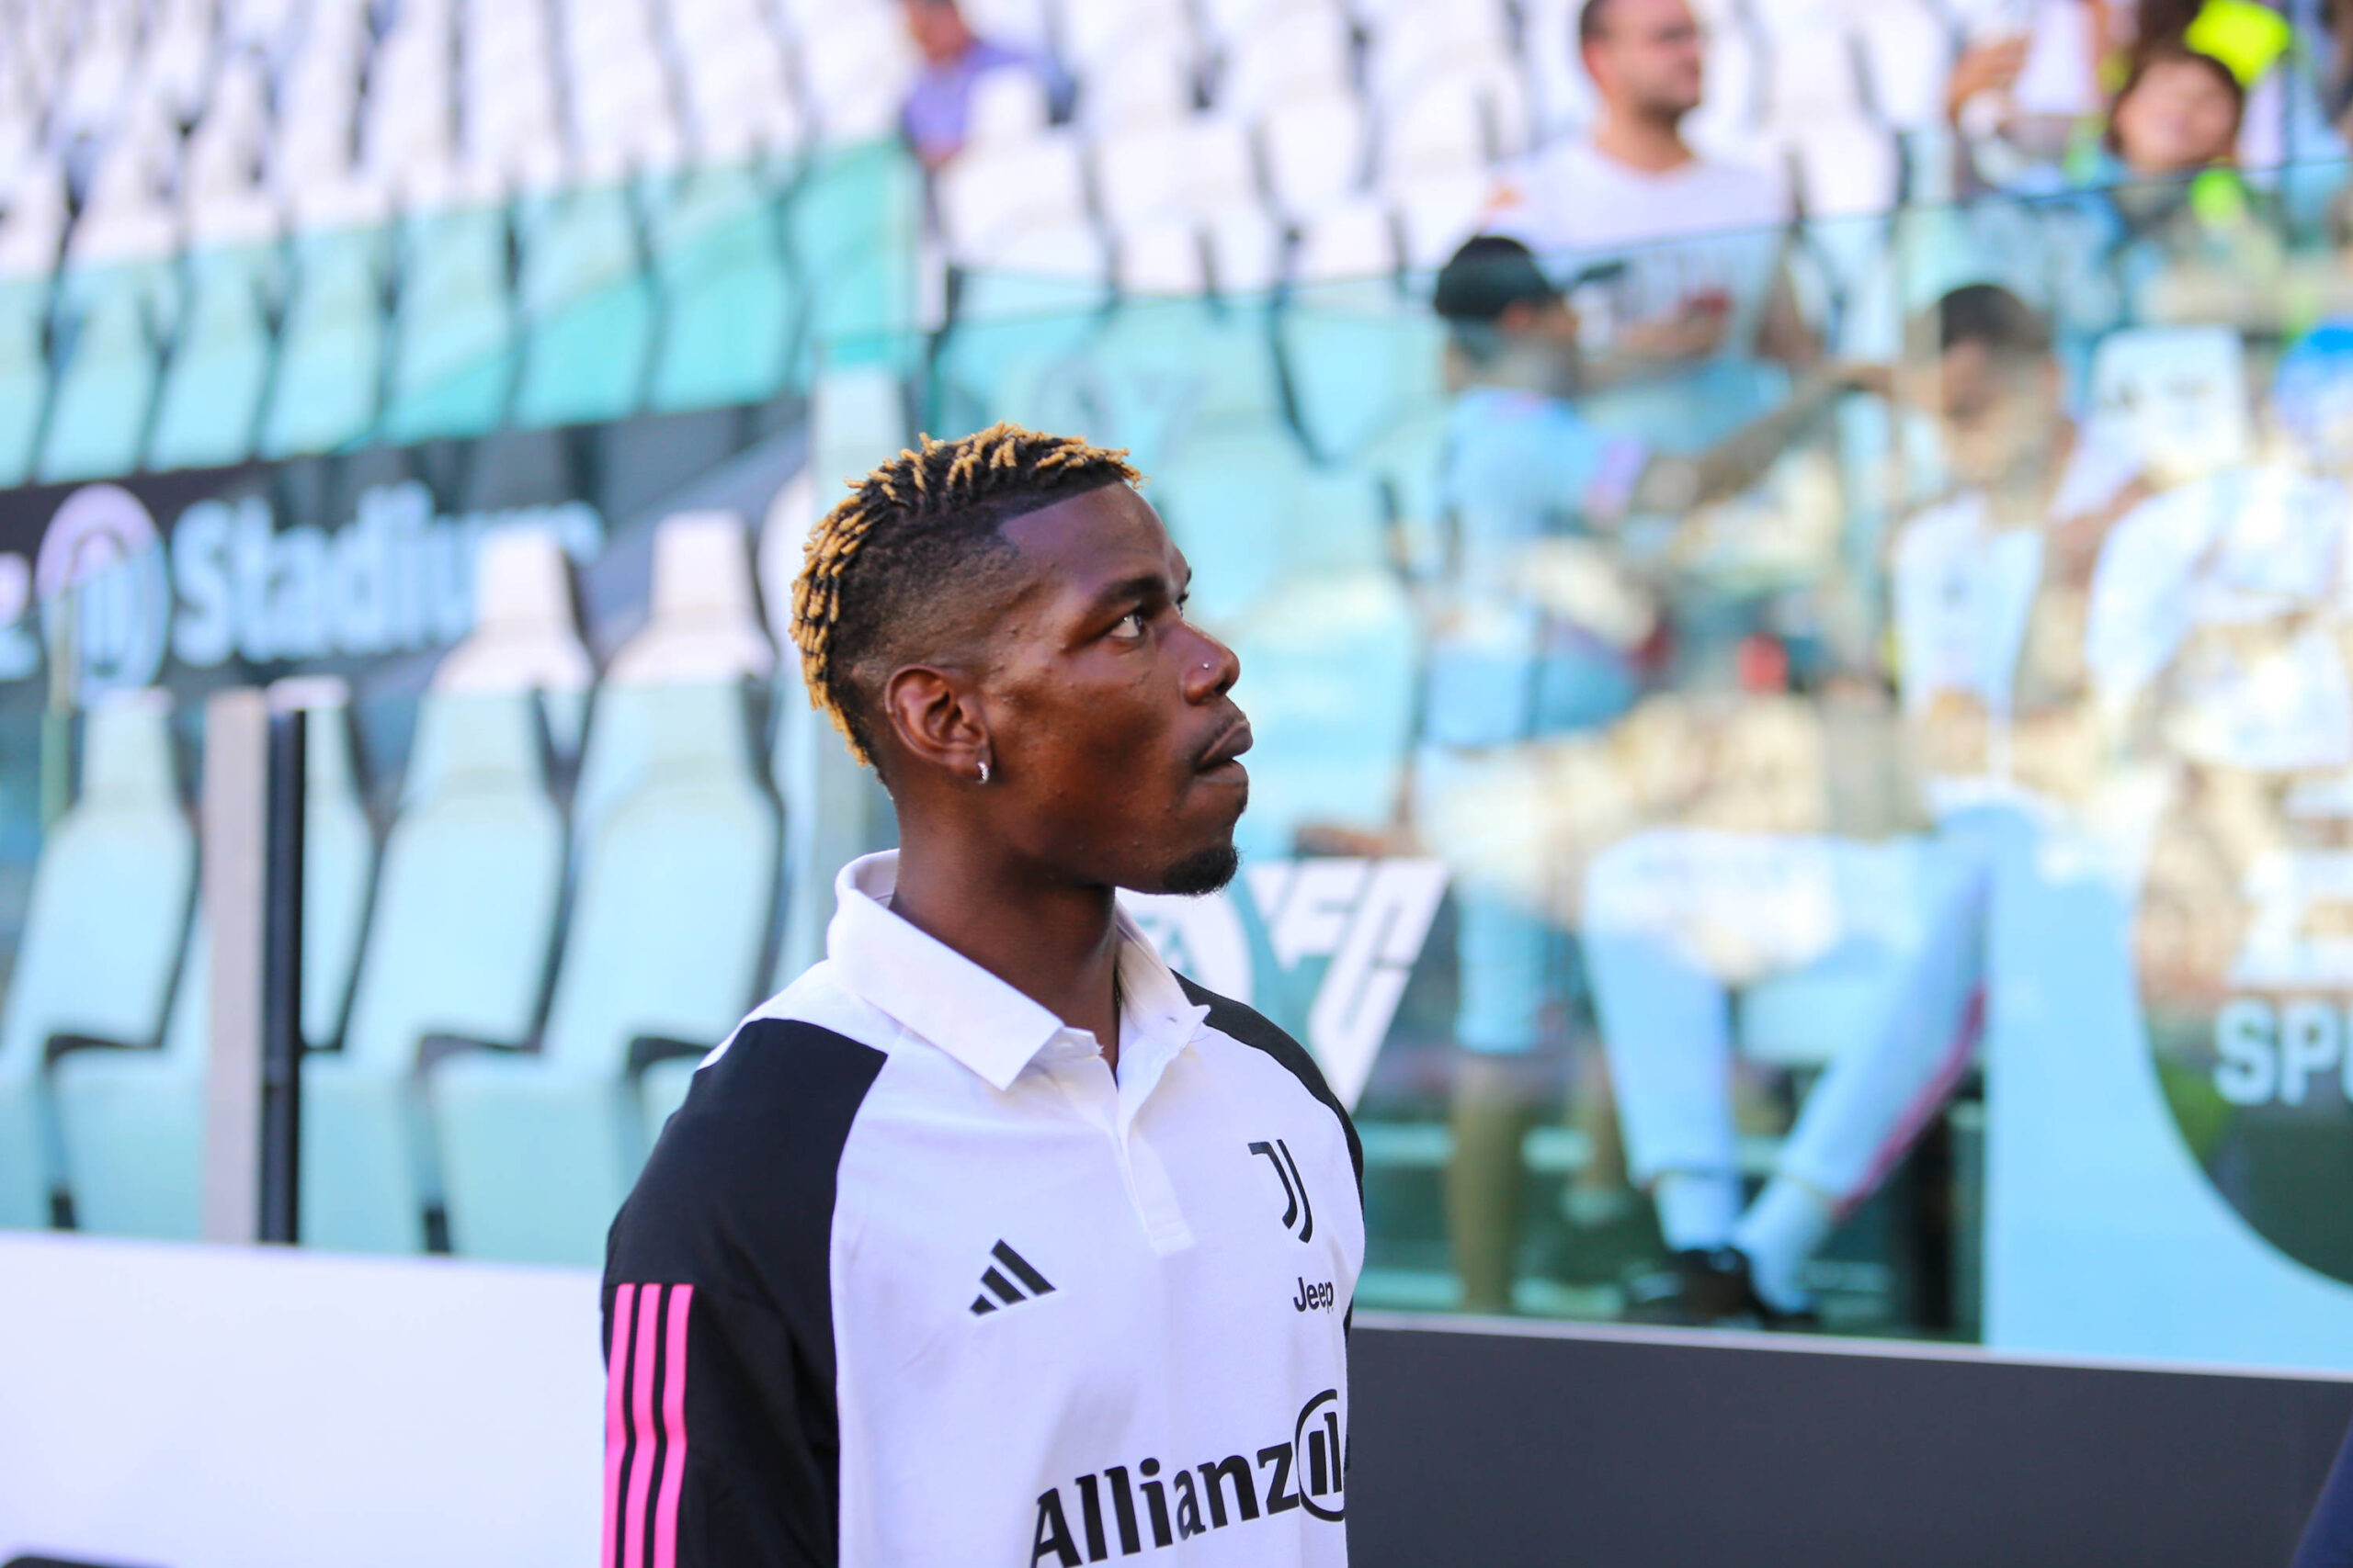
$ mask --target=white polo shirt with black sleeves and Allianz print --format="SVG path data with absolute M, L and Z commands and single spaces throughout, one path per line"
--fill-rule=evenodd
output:
M 1092 1034 L 889 912 L 694 1074 L 614 1222 L 607 1563 L 1344 1563 L 1355 1133 L 1120 917 Z

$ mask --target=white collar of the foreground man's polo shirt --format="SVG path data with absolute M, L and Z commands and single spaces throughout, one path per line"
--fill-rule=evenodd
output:
M 842 983 L 901 1027 L 925 1039 L 993 1088 L 1012 1088 L 1021 1070 L 1064 1030 L 1061 1018 L 1024 997 L 939 938 L 892 914 L 899 851 L 861 856 L 833 882 L 826 957 Z M 1193 1039 L 1209 1009 L 1193 1006 L 1151 940 L 1118 912 L 1122 1079 L 1160 1070 Z

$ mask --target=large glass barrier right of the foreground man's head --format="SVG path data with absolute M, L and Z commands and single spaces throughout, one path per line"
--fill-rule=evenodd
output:
M 2327 226 L 2200 176 L 1522 263 L 1452 320 L 967 273 L 934 353 L 944 430 L 1129 447 L 1242 656 L 1245 875 L 1151 924 L 1355 1107 L 1360 1305 L 2341 1361 Z M 2151 1229 L 2289 1338 L 2134 1312 Z

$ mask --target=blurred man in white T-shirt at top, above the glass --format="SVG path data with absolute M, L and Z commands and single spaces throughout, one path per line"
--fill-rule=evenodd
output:
M 1784 268 L 1788 190 L 1760 169 L 1701 158 L 1682 139 L 1701 103 L 1706 54 L 1687 0 L 1586 0 L 1577 49 L 1600 118 L 1591 136 L 1527 158 L 1499 190 L 1487 230 L 1546 259 L 1621 254 L 1607 287 L 1579 294 L 1588 348 L 1626 376 L 1673 378 L 1678 400 L 1647 433 L 1654 444 L 1682 444 L 1694 393 L 1722 409 L 1720 433 L 1758 397 L 1732 395 L 1739 376 L 1718 367 L 1755 357 L 1802 367 L 1819 353 Z

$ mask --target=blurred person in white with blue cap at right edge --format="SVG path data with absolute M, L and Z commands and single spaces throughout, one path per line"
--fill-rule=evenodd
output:
M 2167 489 L 2113 529 L 2085 635 L 2113 743 L 2165 780 L 2134 907 L 2151 1046 L 2167 1093 L 2191 1084 L 2209 1105 L 2217 1009 L 2304 985 L 2299 964 L 2334 940 L 2301 936 L 2332 929 L 2325 896 L 2280 919 L 2266 891 L 2320 886 L 2353 818 L 2353 331 L 2320 327 L 2282 357 L 2273 414 L 2285 440 L 2264 461 Z M 2200 1159 L 2264 1157 L 2261 1117 L 2214 1135 L 2235 1152 Z

